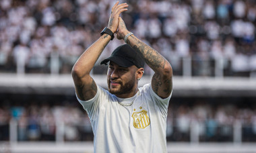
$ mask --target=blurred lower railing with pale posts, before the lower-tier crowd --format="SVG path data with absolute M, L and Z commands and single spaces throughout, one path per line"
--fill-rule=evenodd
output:
M 85 121 L 84 118 L 79 120 Z M 16 119 L 9 121 L 9 142 L 11 144 L 27 141 L 49 141 L 58 144 L 93 141 L 90 121 L 79 124 L 65 123 L 60 120 L 56 121 L 53 125 L 42 123 L 20 124 Z M 253 124 L 242 125 L 240 120 L 236 120 L 232 125 L 212 126 L 191 120 L 187 130 L 181 129 L 178 125 L 167 125 L 166 139 L 168 142 L 190 142 L 191 144 L 203 142 L 232 142 L 234 144 L 241 144 L 243 142 L 256 142 L 256 131 L 252 131 L 252 129 Z M 1 131 L 0 135 L 3 135 L 3 132 L 7 131 Z

